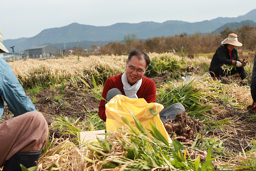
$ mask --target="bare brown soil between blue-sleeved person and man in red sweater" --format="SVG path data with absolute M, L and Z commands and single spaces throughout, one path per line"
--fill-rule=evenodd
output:
M 30 99 L 36 98 L 37 100 L 33 103 L 38 111 L 40 111 L 49 125 L 50 139 L 59 137 L 68 137 L 69 135 L 62 134 L 62 131 L 51 128 L 51 123 L 54 122 L 54 117 L 56 115 L 63 115 L 67 117 L 81 117 L 80 121 L 84 120 L 90 113 L 97 113 L 99 100 L 89 95 L 84 90 L 79 90 L 74 82 L 70 82 L 65 87 L 63 91 L 61 89 L 51 90 L 44 89 L 36 95 L 28 94 Z M 79 88 L 87 88 L 82 82 L 77 82 Z M 89 84 L 90 85 L 90 84 Z M 93 85 L 90 85 L 93 87 Z M 0 120 L 2 123 L 13 117 L 11 112 L 7 109 L 7 105 L 4 105 L 4 114 Z M 54 135 L 54 137 L 53 137 Z

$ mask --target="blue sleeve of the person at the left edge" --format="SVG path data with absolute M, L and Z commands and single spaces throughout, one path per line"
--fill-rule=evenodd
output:
M 2 97 L 14 116 L 21 115 L 28 111 L 36 111 L 34 104 L 30 98 L 26 96 L 22 85 L 12 72 L 12 68 L 9 64 L 6 65 L 0 86 Z

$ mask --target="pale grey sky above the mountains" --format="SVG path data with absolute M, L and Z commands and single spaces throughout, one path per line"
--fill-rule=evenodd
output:
M 47 28 L 73 22 L 92 26 L 201 22 L 238 17 L 256 9 L 256 0 L 1 0 L 3 39 L 30 38 Z

